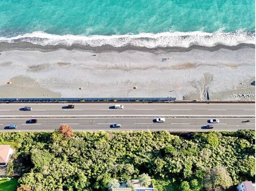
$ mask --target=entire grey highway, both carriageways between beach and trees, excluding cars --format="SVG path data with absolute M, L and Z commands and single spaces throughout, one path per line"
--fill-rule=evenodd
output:
M 118 103 L 115 103 L 118 104 Z M 51 131 L 69 124 L 73 130 L 169 130 L 209 131 L 209 119 L 218 118 L 211 130 L 238 130 L 255 128 L 255 104 L 202 104 L 202 103 L 125 103 L 124 109 L 113 109 L 113 103 L 76 103 L 67 109 L 67 103 L 10 103 L 0 104 L 0 131 Z M 32 111 L 24 111 L 25 106 Z M 166 122 L 155 122 L 156 117 Z M 27 124 L 38 119 L 37 124 Z M 250 120 L 250 122 L 244 122 Z M 111 128 L 119 123 L 121 128 Z M 11 130 L 12 131 L 12 130 Z

